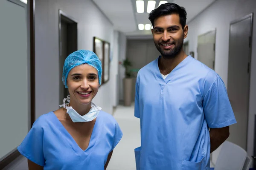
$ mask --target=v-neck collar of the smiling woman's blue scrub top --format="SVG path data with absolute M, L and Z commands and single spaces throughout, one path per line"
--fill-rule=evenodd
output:
M 65 140 L 67 140 L 67 142 L 69 142 L 70 146 L 73 148 L 73 150 L 75 150 L 76 153 L 79 152 L 83 152 L 86 155 L 89 155 L 92 150 L 93 150 L 93 145 L 96 144 L 98 136 L 96 131 L 98 131 L 99 128 L 99 115 L 96 118 L 95 124 L 93 126 L 93 131 L 90 137 L 90 141 L 88 144 L 88 147 L 85 150 L 82 150 L 81 147 L 79 147 L 79 145 L 76 143 L 75 139 L 71 136 L 71 134 L 67 131 L 67 129 L 62 125 L 62 123 L 60 122 L 60 120 L 57 118 L 57 116 L 55 115 L 55 113 L 53 113 L 53 117 L 55 119 L 55 122 L 57 123 L 58 127 L 60 128 L 61 132 L 63 133 L 63 135 L 65 135 L 67 138 L 64 137 Z

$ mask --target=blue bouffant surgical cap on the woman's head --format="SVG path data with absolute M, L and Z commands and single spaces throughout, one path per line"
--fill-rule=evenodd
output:
M 89 50 L 78 50 L 71 53 L 65 59 L 63 66 L 63 74 L 62 74 L 62 82 L 67 88 L 67 76 L 70 70 L 76 66 L 88 64 L 98 71 L 99 76 L 99 85 L 101 84 L 101 76 L 102 76 L 102 63 L 99 60 L 99 57 L 93 52 Z

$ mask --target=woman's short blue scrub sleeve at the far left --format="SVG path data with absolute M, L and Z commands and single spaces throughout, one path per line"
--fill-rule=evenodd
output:
M 42 167 L 45 164 L 43 152 L 43 136 L 44 130 L 41 127 L 40 118 L 38 118 L 34 122 L 31 130 L 29 130 L 29 133 L 23 142 L 20 144 L 20 146 L 17 147 L 17 150 L 21 155 Z

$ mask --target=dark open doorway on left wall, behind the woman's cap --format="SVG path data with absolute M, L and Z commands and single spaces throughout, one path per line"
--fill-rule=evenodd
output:
M 69 95 L 62 82 L 62 72 L 65 59 L 77 51 L 77 22 L 59 10 L 59 103 Z

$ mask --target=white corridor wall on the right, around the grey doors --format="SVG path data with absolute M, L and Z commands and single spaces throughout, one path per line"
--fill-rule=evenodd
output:
M 254 13 L 253 23 L 256 23 L 256 0 L 217 0 L 209 6 L 209 8 L 195 17 L 194 20 L 188 23 L 189 33 L 185 41 L 189 41 L 189 51 L 195 52 L 195 58 L 198 57 L 198 35 L 217 28 L 215 71 L 222 77 L 226 87 L 230 22 L 240 19 L 251 12 Z M 254 115 L 256 114 L 256 26 L 253 26 L 252 47 L 254 48 L 252 48 L 251 56 L 249 122 L 247 135 L 247 152 L 250 156 L 253 155 Z

